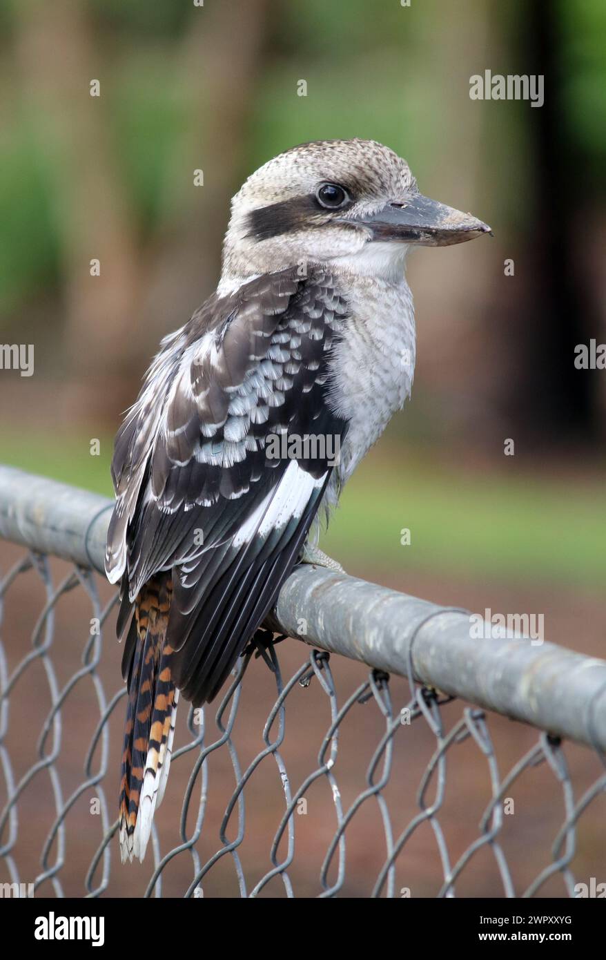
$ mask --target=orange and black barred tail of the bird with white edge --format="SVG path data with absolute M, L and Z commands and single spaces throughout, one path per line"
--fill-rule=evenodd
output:
M 120 782 L 123 863 L 133 855 L 143 860 L 153 812 L 162 801 L 169 774 L 178 701 L 171 673 L 173 649 L 166 643 L 172 595 L 168 574 L 152 577 L 135 600 L 130 625 L 136 637 L 128 675 Z

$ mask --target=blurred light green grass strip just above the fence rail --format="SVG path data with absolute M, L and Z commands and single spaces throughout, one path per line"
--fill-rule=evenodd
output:
M 3 461 L 111 495 L 112 441 L 5 438 Z M 410 531 L 403 546 L 401 532 Z M 377 571 L 428 569 L 597 587 L 606 579 L 606 515 L 597 480 L 507 476 L 371 451 L 345 488 L 322 546 Z

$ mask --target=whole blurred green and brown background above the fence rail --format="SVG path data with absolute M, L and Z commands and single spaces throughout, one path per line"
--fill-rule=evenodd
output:
M 495 235 L 410 256 L 412 397 L 325 549 L 603 656 L 606 371 L 574 348 L 606 342 L 604 4 L 0 0 L 0 36 L 0 341 L 35 345 L 34 376 L 0 372 L 0 461 L 110 495 L 113 435 L 214 290 L 241 182 L 374 138 Z M 544 75 L 544 106 L 470 99 L 485 69 Z

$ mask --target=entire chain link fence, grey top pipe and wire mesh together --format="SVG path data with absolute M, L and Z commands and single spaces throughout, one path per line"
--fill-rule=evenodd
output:
M 5 896 L 599 896 L 606 662 L 310 567 L 221 703 L 181 706 L 123 867 L 110 509 L 0 468 Z

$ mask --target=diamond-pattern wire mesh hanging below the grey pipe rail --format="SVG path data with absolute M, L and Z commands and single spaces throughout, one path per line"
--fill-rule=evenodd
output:
M 40 588 L 28 643 L 27 616 L 11 615 L 12 595 L 20 589 L 31 615 Z M 575 884 L 591 884 L 604 864 L 603 756 L 521 724 L 510 725 L 512 738 L 501 717 L 411 678 L 267 634 L 248 646 L 221 703 L 190 708 L 186 723 L 181 709 L 151 852 L 142 866 L 123 867 L 115 811 L 126 689 L 115 609 L 116 596 L 91 570 L 42 554 L 18 556 L 0 581 L 0 882 L 58 897 L 575 896 Z M 74 701 L 76 719 L 66 715 Z M 489 724 L 507 734 L 503 769 Z M 296 750 L 305 747 L 304 756 L 291 752 L 294 772 L 289 731 Z M 543 776 L 533 779 L 539 767 Z M 221 798 L 211 812 L 215 786 Z M 529 810 L 524 828 L 516 804 Z M 243 855 L 246 841 L 252 857 Z

